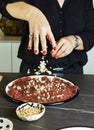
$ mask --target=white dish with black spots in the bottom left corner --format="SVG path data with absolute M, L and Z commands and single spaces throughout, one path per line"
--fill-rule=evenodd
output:
M 0 117 L 0 130 L 13 130 L 13 123 L 7 118 Z

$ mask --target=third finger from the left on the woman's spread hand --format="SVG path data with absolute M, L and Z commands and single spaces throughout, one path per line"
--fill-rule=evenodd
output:
M 41 46 L 42 46 L 42 54 L 46 55 L 47 54 L 46 36 L 40 35 L 40 41 L 41 41 Z

